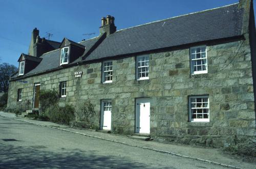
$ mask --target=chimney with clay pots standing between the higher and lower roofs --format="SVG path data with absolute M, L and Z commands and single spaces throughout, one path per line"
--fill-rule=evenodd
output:
M 101 26 L 99 27 L 100 34 L 106 33 L 106 36 L 116 32 L 116 26 L 114 23 L 115 18 L 107 15 L 106 18 L 101 18 Z

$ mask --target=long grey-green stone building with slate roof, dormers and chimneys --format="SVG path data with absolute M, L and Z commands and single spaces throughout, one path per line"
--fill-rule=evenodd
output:
M 32 32 L 11 76 L 8 107 L 39 107 L 39 90 L 59 105 L 90 100 L 102 130 L 220 147 L 255 136 L 255 23 L 252 1 L 62 42 Z

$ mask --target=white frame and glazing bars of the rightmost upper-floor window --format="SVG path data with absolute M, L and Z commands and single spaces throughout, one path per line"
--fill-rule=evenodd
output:
M 200 52 L 197 52 L 197 48 L 200 48 Z M 205 48 L 205 52 L 202 51 L 202 48 Z M 195 52 L 193 52 L 193 50 L 195 50 Z M 205 57 L 202 58 L 203 53 L 205 53 Z M 197 54 L 200 54 L 200 58 L 197 58 Z M 193 55 L 195 57 L 193 57 Z M 203 45 L 203 46 L 195 46 L 195 47 L 190 47 L 189 50 L 189 57 L 190 57 L 190 73 L 191 74 L 203 74 L 203 73 L 208 73 L 208 63 L 207 63 L 207 46 Z M 203 64 L 202 61 L 205 61 L 205 63 Z M 201 65 L 197 65 L 198 61 L 201 61 Z M 194 71 L 194 67 L 198 68 L 199 66 L 201 66 L 201 70 L 196 70 Z M 205 66 L 206 70 L 202 70 L 203 66 Z

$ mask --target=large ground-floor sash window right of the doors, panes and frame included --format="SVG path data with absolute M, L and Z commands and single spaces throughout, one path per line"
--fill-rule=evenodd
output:
M 209 97 L 190 96 L 189 97 L 189 121 L 209 122 Z

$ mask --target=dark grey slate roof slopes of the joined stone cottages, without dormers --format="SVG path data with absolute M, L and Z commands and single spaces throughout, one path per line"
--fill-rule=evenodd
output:
M 238 5 L 233 4 L 119 30 L 103 39 L 84 61 L 240 36 L 244 10 L 238 9 Z M 74 43 L 85 46 L 86 53 L 99 39 L 100 36 Z M 51 43 L 55 47 L 61 44 L 54 41 Z M 26 75 L 58 68 L 60 49 L 42 54 L 40 58 L 40 64 Z M 81 58 L 73 63 L 79 61 Z M 15 77 L 17 75 L 12 78 Z

